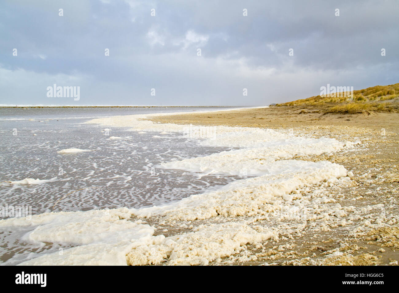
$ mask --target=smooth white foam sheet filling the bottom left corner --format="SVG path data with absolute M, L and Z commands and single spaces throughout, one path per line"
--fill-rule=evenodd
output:
M 28 260 L 22 265 L 126 265 L 126 253 L 147 244 L 154 229 L 130 221 L 127 208 L 51 212 L 0 220 L 0 226 L 29 226 L 28 242 L 59 242 L 76 247 Z

